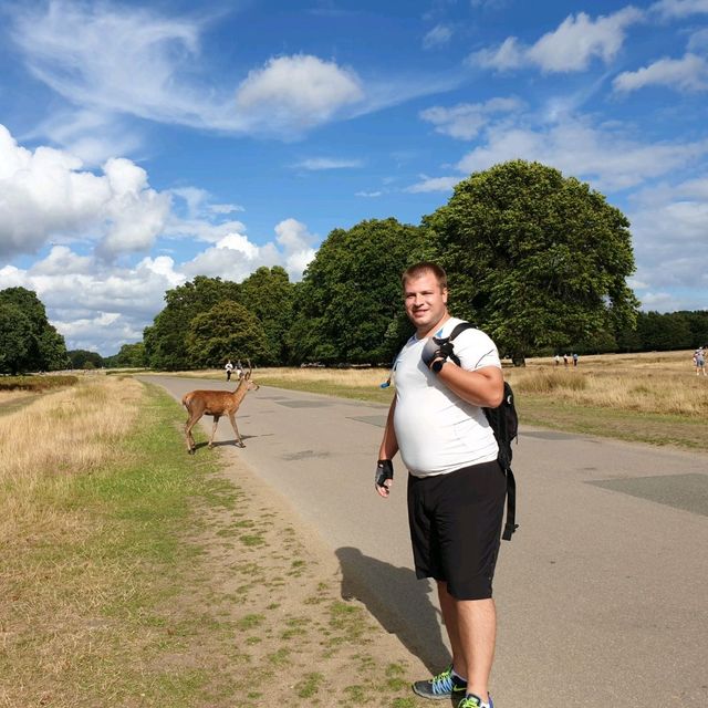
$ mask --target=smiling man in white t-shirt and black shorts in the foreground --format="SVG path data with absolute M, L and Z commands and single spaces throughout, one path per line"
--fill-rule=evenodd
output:
M 406 314 L 416 327 L 396 360 L 391 405 L 376 469 L 386 498 L 398 450 L 408 468 L 408 520 L 419 579 L 437 582 L 452 648 L 451 665 L 413 690 L 425 698 L 460 698 L 458 708 L 489 708 L 497 615 L 491 583 L 507 489 L 498 446 L 482 406 L 503 397 L 494 343 L 479 330 L 454 343 L 461 321 L 447 311 L 447 277 L 436 263 L 418 263 L 402 278 Z

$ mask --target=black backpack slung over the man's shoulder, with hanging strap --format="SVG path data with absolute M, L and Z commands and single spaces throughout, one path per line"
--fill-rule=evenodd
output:
M 440 344 L 446 341 L 451 342 L 460 332 L 473 329 L 475 326 L 469 322 L 461 322 L 452 330 L 450 336 L 442 340 L 436 337 L 436 341 Z M 450 354 L 450 358 L 459 366 L 460 360 L 455 356 L 454 353 Z M 501 404 L 496 408 L 482 408 L 482 410 L 487 416 L 489 427 L 494 433 L 494 438 L 497 438 L 497 445 L 499 446 L 499 457 L 497 459 L 507 476 L 507 523 L 504 524 L 501 538 L 504 541 L 511 541 L 512 533 L 519 528 L 519 524 L 516 523 L 517 481 L 511 471 L 511 442 L 519 437 L 519 416 L 517 415 L 517 408 L 513 404 L 513 391 L 511 386 L 504 382 L 504 398 Z

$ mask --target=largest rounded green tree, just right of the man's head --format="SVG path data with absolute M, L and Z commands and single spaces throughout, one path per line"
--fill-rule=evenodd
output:
M 559 170 L 512 160 L 471 175 L 424 219 L 450 280 L 450 308 L 523 363 L 632 326 L 629 222 Z

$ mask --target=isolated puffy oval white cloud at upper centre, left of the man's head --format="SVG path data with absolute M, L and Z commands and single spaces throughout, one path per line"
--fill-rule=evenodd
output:
M 257 132 L 302 131 L 331 119 L 364 97 L 358 76 L 334 62 L 299 54 L 271 59 L 249 72 L 236 95 L 239 113 Z

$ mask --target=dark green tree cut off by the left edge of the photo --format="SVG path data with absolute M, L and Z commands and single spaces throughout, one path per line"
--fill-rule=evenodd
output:
M 64 337 L 46 319 L 37 293 L 25 288 L 0 291 L 0 371 L 23 373 L 64 368 Z

